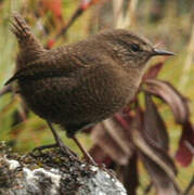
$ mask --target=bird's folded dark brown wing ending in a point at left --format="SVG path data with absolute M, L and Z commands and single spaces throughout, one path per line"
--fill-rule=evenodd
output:
M 52 62 L 35 61 L 25 68 L 18 69 L 7 82 L 11 83 L 17 79 L 42 79 L 51 77 L 68 77 L 68 75 L 76 70 L 74 66 L 57 66 Z

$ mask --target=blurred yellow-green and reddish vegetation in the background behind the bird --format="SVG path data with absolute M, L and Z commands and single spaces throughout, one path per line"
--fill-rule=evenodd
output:
M 10 31 L 13 12 L 24 15 L 34 34 L 48 49 L 76 42 L 106 28 L 127 28 L 174 52 L 174 57 L 165 61 L 158 78 L 169 81 L 189 100 L 194 122 L 193 0 L 0 0 L 0 140 L 8 141 L 14 151 L 29 152 L 35 146 L 52 143 L 53 138 L 42 119 L 25 110 L 20 95 L 3 87 L 14 72 L 18 51 L 16 39 Z M 164 62 L 164 57 L 154 58 L 150 64 L 152 66 L 157 62 Z M 160 106 L 159 110 L 168 126 L 169 153 L 173 158 L 181 128 L 174 123 L 167 106 Z M 59 133 L 69 147 L 79 153 L 64 132 Z M 88 150 L 92 147 L 89 134 L 79 133 L 78 138 Z M 194 166 L 177 166 L 178 182 L 181 188 L 185 188 Z M 141 162 L 139 167 L 141 185 L 138 194 L 143 194 L 148 176 Z

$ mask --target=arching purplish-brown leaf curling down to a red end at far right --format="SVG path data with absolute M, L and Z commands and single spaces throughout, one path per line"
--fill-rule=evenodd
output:
M 182 126 L 182 136 L 176 158 L 182 166 L 190 165 L 194 148 L 194 128 L 189 121 L 190 112 L 185 98 L 166 81 L 150 79 L 146 80 L 146 84 L 148 92 L 160 98 L 170 106 L 177 123 Z

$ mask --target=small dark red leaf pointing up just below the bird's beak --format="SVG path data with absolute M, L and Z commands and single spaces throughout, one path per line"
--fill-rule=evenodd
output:
M 145 81 L 146 79 L 155 79 L 163 66 L 164 66 L 164 62 L 159 62 L 154 66 L 152 66 L 151 68 L 148 68 L 146 74 L 143 76 L 142 80 Z

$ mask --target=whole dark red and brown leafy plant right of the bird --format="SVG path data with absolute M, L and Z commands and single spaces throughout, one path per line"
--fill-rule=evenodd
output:
M 135 194 L 139 184 L 138 160 L 142 160 L 151 176 L 150 188 L 154 185 L 157 194 L 181 193 L 176 179 L 178 170 L 169 156 L 168 126 L 158 112 L 161 103 L 169 106 L 174 121 L 182 127 L 176 159 L 182 166 L 192 161 L 194 128 L 190 121 L 187 101 L 169 82 L 156 79 L 163 65 L 164 62 L 155 64 L 147 70 L 139 93 L 125 112 L 91 130 L 95 143 L 91 155 L 100 164 L 112 168 L 114 165 L 129 194 Z M 144 95 L 144 106 L 140 104 L 140 93 Z M 163 102 L 156 104 L 153 96 Z M 134 179 L 132 185 L 131 177 Z

